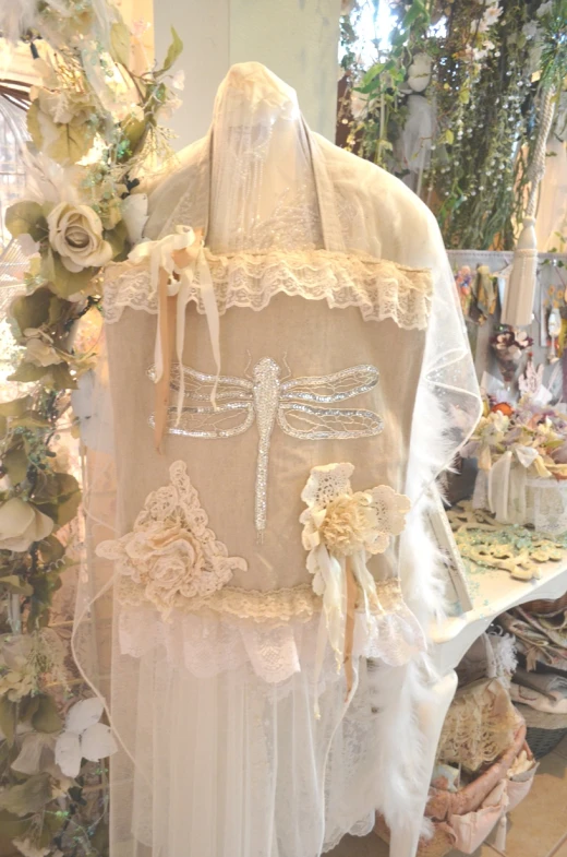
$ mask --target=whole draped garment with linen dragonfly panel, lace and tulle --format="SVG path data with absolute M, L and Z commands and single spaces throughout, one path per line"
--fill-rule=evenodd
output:
M 257 63 L 230 70 L 209 134 L 171 172 L 145 237 L 202 229 L 204 250 L 176 318 L 161 452 L 150 247 L 106 272 L 89 410 L 73 643 L 120 748 L 112 854 L 319 857 L 377 809 L 412 837 L 443 598 L 427 488 L 480 414 L 437 225 L 401 182 L 312 133 Z M 325 537 L 337 557 L 346 533 L 361 538 L 354 610 L 340 561 L 337 576 L 351 687 L 300 522 L 310 475 L 334 463 L 351 485 Z

